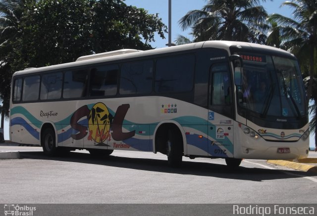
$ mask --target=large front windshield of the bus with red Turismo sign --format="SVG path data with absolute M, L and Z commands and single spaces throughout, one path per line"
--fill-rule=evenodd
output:
M 263 118 L 301 117 L 307 114 L 305 91 L 298 63 L 294 59 L 241 54 L 242 86 L 238 86 L 240 108 Z

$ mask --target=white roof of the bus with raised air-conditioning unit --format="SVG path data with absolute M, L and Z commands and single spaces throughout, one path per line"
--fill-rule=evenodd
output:
M 156 54 L 162 54 L 162 53 L 177 52 L 177 51 L 190 50 L 190 49 L 203 48 L 203 47 L 222 48 L 229 51 L 229 47 L 233 45 L 241 45 L 244 47 L 247 46 L 250 48 L 252 47 L 264 48 L 264 49 L 275 51 L 275 52 L 279 51 L 285 54 L 286 53 L 290 54 L 289 52 L 283 49 L 279 49 L 279 48 L 275 48 L 275 47 L 267 46 L 267 45 L 262 45 L 262 44 L 257 44 L 257 43 L 233 42 L 233 41 L 206 41 L 206 42 L 190 43 L 190 44 L 164 47 L 164 48 L 158 48 L 158 49 L 151 49 L 146 51 L 141 51 L 136 49 L 122 49 L 122 50 L 116 50 L 111 52 L 99 53 L 95 55 L 87 55 L 87 56 L 79 57 L 75 62 L 17 71 L 14 73 L 14 76 L 28 74 L 28 73 L 44 72 L 49 70 L 58 70 L 58 69 L 67 70 L 67 68 L 70 68 L 70 67 L 83 66 L 83 65 L 94 64 L 94 63 L 102 63 L 102 62 L 108 62 L 113 60 L 120 60 L 124 58 L 134 58 L 134 57 L 140 57 L 140 56 L 149 56 L 149 55 L 156 55 Z

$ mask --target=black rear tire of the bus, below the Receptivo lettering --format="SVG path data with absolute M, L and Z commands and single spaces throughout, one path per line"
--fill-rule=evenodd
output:
M 48 156 L 55 156 L 57 154 L 55 132 L 52 128 L 47 128 L 44 130 L 42 136 L 42 148 L 44 154 Z

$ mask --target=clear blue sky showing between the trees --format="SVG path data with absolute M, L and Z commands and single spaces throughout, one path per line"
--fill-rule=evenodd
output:
M 279 13 L 287 17 L 292 17 L 291 10 L 287 6 L 282 6 L 281 4 L 285 0 L 266 0 L 262 2 L 264 9 L 268 14 Z M 168 0 L 125 0 L 127 5 L 133 5 L 139 8 L 144 8 L 148 10 L 151 14 L 159 14 L 159 18 L 167 26 L 168 25 Z M 171 24 L 171 41 L 174 42 L 178 35 L 183 35 L 192 39 L 190 29 L 187 31 L 182 31 L 179 27 L 178 21 L 190 10 L 202 9 L 207 3 L 206 0 L 171 0 L 172 6 L 172 24 Z M 165 34 L 165 39 L 161 39 L 157 34 L 155 36 L 155 42 L 150 43 L 154 48 L 166 47 L 168 43 L 168 34 Z M 0 117 L 1 118 L 1 117 Z M 5 121 L 4 125 L 4 139 L 9 139 L 8 121 Z M 311 143 L 315 143 L 314 138 L 311 136 Z

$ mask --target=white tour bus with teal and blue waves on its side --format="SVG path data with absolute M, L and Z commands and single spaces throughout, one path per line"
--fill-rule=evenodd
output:
M 47 155 L 87 149 L 182 157 L 308 156 L 306 93 L 293 54 L 270 46 L 208 41 L 122 49 L 15 72 L 11 141 Z

